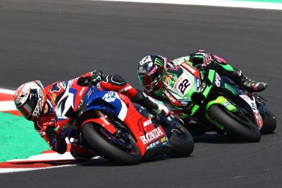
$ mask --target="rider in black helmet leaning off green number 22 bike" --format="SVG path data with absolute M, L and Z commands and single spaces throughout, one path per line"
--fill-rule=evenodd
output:
M 154 99 L 164 102 L 167 101 L 168 104 L 171 104 L 171 107 L 175 108 L 176 111 L 174 112 L 176 112 L 176 114 L 183 113 L 183 111 L 180 109 L 180 113 L 178 113 L 178 108 L 173 106 L 173 101 L 170 99 L 171 96 L 165 92 L 166 86 L 164 82 L 169 83 L 169 80 L 173 79 L 171 75 L 166 74 L 166 70 L 173 70 L 176 66 L 181 65 L 182 63 L 188 63 L 188 65 L 197 69 L 209 68 L 216 70 L 219 75 L 229 77 L 235 84 L 245 88 L 249 92 L 261 92 L 267 87 L 266 83 L 250 80 L 243 75 L 241 70 L 231 67 L 231 65 L 229 65 L 223 58 L 208 54 L 204 50 L 199 50 L 196 53 L 176 58 L 172 61 L 166 57 L 158 55 L 145 56 L 138 63 L 137 67 L 137 75 L 142 88 L 146 94 L 152 96 Z M 185 117 L 187 117 L 187 115 L 185 115 Z M 183 116 L 181 118 L 183 118 Z M 195 127 L 197 126 L 198 125 Z M 189 127 L 188 130 L 193 132 Z

